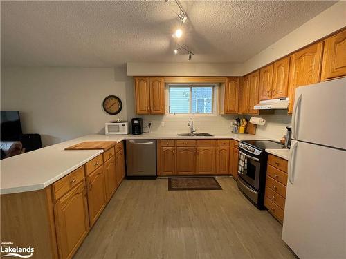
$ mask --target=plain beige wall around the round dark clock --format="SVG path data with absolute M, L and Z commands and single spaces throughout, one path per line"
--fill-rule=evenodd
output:
M 91 133 L 104 122 L 132 116 L 132 80 L 125 69 L 4 68 L 1 110 L 19 110 L 24 133 L 42 134 L 44 146 Z M 118 115 L 102 109 L 107 95 L 122 99 Z

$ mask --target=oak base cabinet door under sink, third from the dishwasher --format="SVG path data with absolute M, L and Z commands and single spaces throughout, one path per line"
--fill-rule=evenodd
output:
M 215 167 L 215 146 L 198 146 L 197 174 L 213 174 Z

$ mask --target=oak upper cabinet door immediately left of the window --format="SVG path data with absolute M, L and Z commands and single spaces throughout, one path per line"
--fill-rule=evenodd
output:
M 149 77 L 150 113 L 165 114 L 165 81 L 163 77 Z

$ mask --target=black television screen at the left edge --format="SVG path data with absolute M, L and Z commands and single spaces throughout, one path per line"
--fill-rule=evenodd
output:
M 21 121 L 19 111 L 1 111 L 1 140 L 19 140 Z

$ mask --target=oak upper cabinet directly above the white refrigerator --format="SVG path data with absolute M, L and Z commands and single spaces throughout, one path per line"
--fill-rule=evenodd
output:
M 325 40 L 321 81 L 346 76 L 346 30 Z

